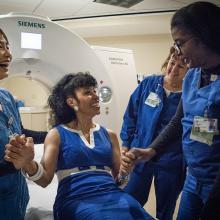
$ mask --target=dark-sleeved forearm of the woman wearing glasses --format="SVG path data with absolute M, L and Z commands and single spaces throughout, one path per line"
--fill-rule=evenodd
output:
M 177 111 L 169 124 L 164 130 L 157 136 L 157 138 L 149 145 L 156 153 L 162 153 L 166 150 L 169 144 L 182 136 L 182 123 L 183 118 L 183 106 L 182 100 L 180 101 Z

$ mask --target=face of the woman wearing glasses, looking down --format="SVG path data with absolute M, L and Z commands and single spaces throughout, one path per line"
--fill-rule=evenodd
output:
M 189 31 L 178 26 L 171 30 L 175 46 L 189 68 L 206 67 L 207 48 Z

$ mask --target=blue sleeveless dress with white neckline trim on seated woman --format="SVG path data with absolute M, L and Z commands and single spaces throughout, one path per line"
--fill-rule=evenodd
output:
M 81 131 L 59 125 L 57 174 L 88 166 L 112 167 L 112 146 L 105 128 L 90 130 L 90 143 Z M 137 189 L 138 190 L 138 189 Z M 59 181 L 54 204 L 55 220 L 153 219 L 131 196 L 117 187 L 106 170 L 82 170 Z

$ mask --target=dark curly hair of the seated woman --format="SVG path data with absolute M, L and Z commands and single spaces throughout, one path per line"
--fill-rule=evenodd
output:
M 78 88 L 97 87 L 96 79 L 90 73 L 79 72 L 65 75 L 53 88 L 48 98 L 54 116 L 54 124 L 66 124 L 76 119 L 75 111 L 67 105 L 67 98 L 74 97 Z

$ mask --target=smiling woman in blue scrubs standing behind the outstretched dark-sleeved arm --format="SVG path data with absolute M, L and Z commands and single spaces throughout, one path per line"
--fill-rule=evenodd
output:
M 123 150 L 146 148 L 168 124 L 181 98 L 187 66 L 174 47 L 164 64 L 164 75 L 145 78 L 130 97 L 121 130 Z M 152 179 L 156 194 L 157 218 L 172 220 L 176 200 L 185 177 L 182 144 L 179 138 L 165 155 L 139 163 L 130 174 L 124 190 L 144 206 Z

